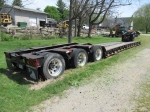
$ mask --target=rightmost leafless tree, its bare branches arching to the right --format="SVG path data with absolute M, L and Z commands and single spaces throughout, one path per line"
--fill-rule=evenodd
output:
M 89 10 L 89 32 L 88 37 L 91 37 L 91 30 L 93 25 L 99 25 L 105 19 L 105 16 L 113 8 L 130 5 L 131 1 L 121 0 L 95 0 L 91 4 L 94 6 Z M 99 20 L 98 20 L 99 19 Z M 97 21 L 98 20 L 98 21 Z

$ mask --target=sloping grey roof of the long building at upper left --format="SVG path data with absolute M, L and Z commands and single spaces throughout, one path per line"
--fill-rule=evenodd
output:
M 19 6 L 9 6 L 7 5 L 6 8 L 14 8 L 14 9 L 17 9 L 17 10 L 24 10 L 24 11 L 29 11 L 29 12 L 35 12 L 35 13 L 41 13 L 41 14 L 46 14 L 46 12 L 43 12 L 41 10 L 36 10 L 36 9 L 29 9 L 29 8 L 25 8 L 25 7 L 19 7 Z

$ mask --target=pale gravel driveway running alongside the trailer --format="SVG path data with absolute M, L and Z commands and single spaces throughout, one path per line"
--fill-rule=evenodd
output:
M 117 64 L 91 83 L 71 88 L 32 107 L 35 112 L 133 112 L 137 109 L 140 84 L 150 69 L 150 49 Z M 97 74 L 101 71 L 97 71 Z M 150 111 L 141 108 L 141 111 Z

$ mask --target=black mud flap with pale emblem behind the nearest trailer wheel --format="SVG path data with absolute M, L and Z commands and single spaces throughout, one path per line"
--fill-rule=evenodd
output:
M 34 67 L 27 66 L 27 77 L 34 81 L 38 81 L 38 69 Z

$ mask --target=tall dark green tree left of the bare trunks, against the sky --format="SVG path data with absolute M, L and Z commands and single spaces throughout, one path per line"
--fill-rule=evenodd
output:
M 66 4 L 62 0 L 57 1 L 57 10 L 61 14 L 61 19 L 66 20 L 69 16 L 69 10 L 66 9 Z

